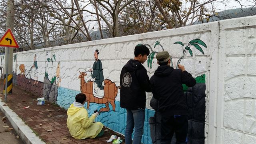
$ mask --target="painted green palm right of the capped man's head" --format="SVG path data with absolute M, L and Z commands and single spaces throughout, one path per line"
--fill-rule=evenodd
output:
M 180 45 L 182 45 L 182 48 L 184 47 L 184 44 L 182 42 L 174 42 L 174 44 L 180 44 Z M 180 61 L 184 58 L 187 50 L 190 53 L 190 55 L 193 56 L 193 52 L 190 49 L 191 45 L 194 46 L 196 49 L 198 49 L 200 52 L 202 52 L 202 54 L 204 55 L 204 51 L 202 50 L 202 48 L 198 44 L 207 48 L 206 44 L 202 40 L 200 40 L 200 39 L 191 40 L 190 42 L 188 42 L 188 45 L 185 46 L 185 48 L 183 50 L 183 53 L 182 53 L 182 57 L 178 60 L 176 68 L 178 68 L 178 64 L 180 64 Z

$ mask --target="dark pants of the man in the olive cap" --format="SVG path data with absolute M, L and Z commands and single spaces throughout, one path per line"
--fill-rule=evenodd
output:
M 161 118 L 161 144 L 170 144 L 175 132 L 176 144 L 187 144 L 188 116 L 173 115 Z

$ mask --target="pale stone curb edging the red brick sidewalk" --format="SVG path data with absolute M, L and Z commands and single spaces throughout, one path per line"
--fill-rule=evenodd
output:
M 3 106 L 6 104 L 0 98 L 0 109 L 6 115 L 9 122 L 12 124 L 13 129 L 18 133 L 20 138 L 25 144 L 46 144 L 43 142 L 34 132 L 28 127 L 22 119 L 13 112 L 8 106 Z

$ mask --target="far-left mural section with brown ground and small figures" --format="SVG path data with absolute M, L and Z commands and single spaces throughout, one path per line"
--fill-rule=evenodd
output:
M 46 53 L 48 56 L 48 52 Z M 33 64 L 29 70 L 26 69 L 24 64 L 20 64 L 19 70 L 20 73 L 16 77 L 16 84 L 21 86 L 22 88 L 33 92 L 38 97 L 44 97 L 45 100 L 50 102 L 56 102 L 58 96 L 58 87 L 60 86 L 60 62 L 58 62 L 58 66 L 56 69 L 56 76 L 53 76 L 51 80 L 49 80 L 47 68 L 48 64 L 52 62 L 52 58 L 46 59 L 46 67 L 45 67 L 45 75 L 44 75 L 44 82 L 38 81 L 38 63 L 36 60 L 36 54 L 33 58 Z M 56 61 L 56 56 L 52 56 L 54 61 Z M 17 58 L 15 58 L 16 60 Z M 16 75 L 16 73 L 14 72 Z

